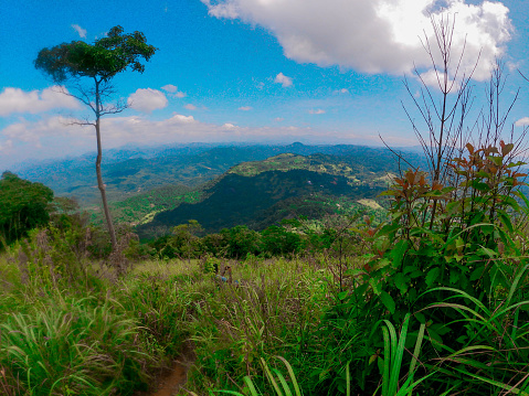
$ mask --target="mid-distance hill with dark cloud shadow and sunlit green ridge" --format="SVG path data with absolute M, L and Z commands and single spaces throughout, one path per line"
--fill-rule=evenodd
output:
M 342 206 L 360 207 L 356 201 L 372 200 L 385 190 L 391 173 L 380 170 L 382 165 L 363 165 L 351 156 L 293 153 L 243 162 L 208 183 L 200 191 L 201 201 L 158 213 L 137 229 L 141 237 L 148 237 L 189 220 L 213 233 L 239 224 L 263 229 L 283 218 L 321 218 Z

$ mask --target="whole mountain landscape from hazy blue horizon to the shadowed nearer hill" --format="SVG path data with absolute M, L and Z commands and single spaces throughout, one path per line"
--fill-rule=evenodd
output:
M 413 151 L 402 156 L 422 163 Z M 106 151 L 104 161 L 114 218 L 135 225 L 145 238 L 189 220 L 207 232 L 240 224 L 262 229 L 282 218 L 380 207 L 372 200 L 399 172 L 388 149 L 348 145 L 127 148 Z M 76 197 L 103 223 L 92 156 L 31 164 L 17 173 L 56 195 Z

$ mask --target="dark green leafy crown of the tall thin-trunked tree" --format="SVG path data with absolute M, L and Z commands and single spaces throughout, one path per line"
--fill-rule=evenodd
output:
M 149 61 L 157 49 L 146 43 L 144 33 L 124 34 L 123 31 L 121 26 L 114 26 L 106 38 L 96 40 L 94 44 L 73 41 L 42 49 L 34 62 L 35 67 L 55 83 L 64 83 L 72 77 L 107 82 L 128 67 L 142 73 L 145 66 L 140 60 Z

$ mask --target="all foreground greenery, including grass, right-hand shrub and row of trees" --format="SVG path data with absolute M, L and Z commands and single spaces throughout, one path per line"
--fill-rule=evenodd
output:
M 54 215 L 0 259 L 0 388 L 133 395 L 192 340 L 197 395 L 525 395 L 529 201 L 512 150 L 468 145 L 452 186 L 404 172 L 384 192 L 387 221 L 334 214 L 203 237 L 191 222 L 133 266 L 147 251 L 129 233 L 97 261 L 94 229 Z M 292 172 L 356 188 L 299 169 L 224 178 Z

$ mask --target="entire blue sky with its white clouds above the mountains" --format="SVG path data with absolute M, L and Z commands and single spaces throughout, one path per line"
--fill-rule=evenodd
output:
M 457 15 L 454 51 L 466 36 L 463 68 L 474 64 L 475 109 L 496 56 L 506 62 L 509 118 L 529 125 L 527 0 L 173 0 L 10 1 L 0 42 L 0 170 L 19 161 L 95 150 L 86 116 L 56 93 L 33 61 L 42 47 L 94 42 L 112 26 L 141 31 L 159 50 L 144 74 L 114 79 L 126 111 L 107 117 L 103 145 L 293 142 L 393 146 L 416 140 L 402 109 L 431 81 L 419 36 L 429 13 Z

